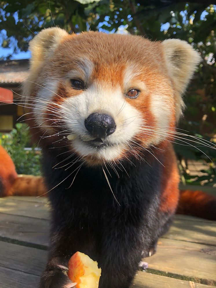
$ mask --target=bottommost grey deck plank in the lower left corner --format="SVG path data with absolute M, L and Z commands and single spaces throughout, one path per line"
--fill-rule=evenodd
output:
M 36 288 L 39 280 L 39 276 L 0 267 L 1 288 Z

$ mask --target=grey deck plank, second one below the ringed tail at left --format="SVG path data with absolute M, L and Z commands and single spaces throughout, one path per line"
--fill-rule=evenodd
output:
M 0 213 L 0 240 L 47 249 L 49 221 Z

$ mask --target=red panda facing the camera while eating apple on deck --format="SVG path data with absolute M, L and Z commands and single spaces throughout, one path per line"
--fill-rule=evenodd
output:
M 199 54 L 177 39 L 60 28 L 30 50 L 23 99 L 52 204 L 40 288 L 74 285 L 62 267 L 76 251 L 102 268 L 99 288 L 128 288 L 177 208 L 172 142 Z

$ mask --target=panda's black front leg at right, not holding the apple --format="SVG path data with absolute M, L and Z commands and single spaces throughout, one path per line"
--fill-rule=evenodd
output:
M 142 251 L 151 247 L 150 223 L 155 221 L 154 215 L 151 216 L 147 207 L 145 211 L 141 202 L 140 209 L 133 205 L 133 200 L 126 201 L 130 204 L 122 202 L 121 206 L 117 206 L 114 203 L 104 209 L 99 256 L 102 274 L 99 288 L 129 288 L 139 269 Z M 151 209 L 154 209 L 153 205 Z

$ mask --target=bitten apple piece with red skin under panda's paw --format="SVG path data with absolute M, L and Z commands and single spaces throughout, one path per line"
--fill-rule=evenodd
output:
M 88 255 L 76 252 L 68 262 L 68 277 L 76 282 L 76 288 L 98 288 L 101 269 L 97 261 Z

